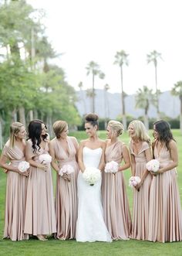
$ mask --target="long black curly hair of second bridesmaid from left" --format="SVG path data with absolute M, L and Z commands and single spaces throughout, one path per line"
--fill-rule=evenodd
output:
M 45 141 L 48 136 L 47 133 L 45 135 L 41 135 L 42 124 L 44 124 L 44 122 L 39 119 L 32 120 L 29 123 L 28 131 L 29 131 L 29 138 L 32 141 L 33 152 L 36 152 L 37 150 L 39 151 L 41 140 L 43 139 L 43 141 Z

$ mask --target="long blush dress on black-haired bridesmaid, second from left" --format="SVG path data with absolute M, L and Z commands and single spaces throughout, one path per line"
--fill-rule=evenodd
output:
M 40 148 L 33 152 L 32 141 L 26 143 L 26 152 L 29 158 L 39 162 L 39 155 L 49 154 L 48 142 L 45 149 Z M 27 203 L 25 210 L 25 233 L 27 234 L 52 234 L 56 233 L 56 215 L 52 183 L 52 170 L 50 164 L 45 172 L 30 166 Z

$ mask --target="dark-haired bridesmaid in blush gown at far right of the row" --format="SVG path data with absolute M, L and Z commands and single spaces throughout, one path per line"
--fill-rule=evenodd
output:
M 160 169 L 150 189 L 149 241 L 182 241 L 182 211 L 177 186 L 177 143 L 167 121 L 153 124 L 153 156 Z

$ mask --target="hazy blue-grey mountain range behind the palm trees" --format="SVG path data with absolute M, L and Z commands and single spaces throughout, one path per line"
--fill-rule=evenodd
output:
M 116 119 L 121 114 L 121 94 L 110 93 L 106 90 L 95 90 L 95 112 L 99 118 Z M 86 90 L 76 91 L 77 99 L 76 108 L 79 114 L 83 116 L 92 112 L 92 99 L 86 96 Z M 143 109 L 135 107 L 135 94 L 130 94 L 125 97 L 126 114 L 133 118 L 143 116 Z M 180 114 L 179 97 L 170 94 L 170 91 L 164 91 L 159 97 L 160 112 L 163 112 L 170 118 L 177 118 Z M 149 109 L 149 118 L 157 118 L 156 108 L 151 104 Z

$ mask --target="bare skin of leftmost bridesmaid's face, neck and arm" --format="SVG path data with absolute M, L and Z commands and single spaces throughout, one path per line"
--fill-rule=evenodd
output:
M 20 131 L 15 134 L 14 147 L 18 147 L 22 152 L 24 152 L 24 154 L 25 154 L 25 137 L 26 137 L 25 127 L 22 126 L 20 128 Z M 7 162 L 9 162 L 9 159 L 5 155 L 1 155 L 0 166 L 4 168 L 6 172 L 7 171 L 18 172 L 22 176 L 29 176 L 29 170 L 27 170 L 26 172 L 20 172 L 19 169 L 17 169 L 17 167 L 12 166 L 12 164 L 8 165 Z

